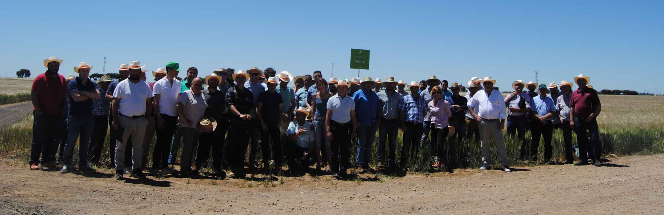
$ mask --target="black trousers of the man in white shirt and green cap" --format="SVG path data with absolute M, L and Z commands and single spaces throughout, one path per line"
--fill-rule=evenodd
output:
M 152 168 L 168 167 L 168 157 L 171 153 L 171 141 L 173 134 L 177 128 L 177 116 L 166 115 L 159 113 L 161 118 L 164 119 L 164 127 L 159 128 L 157 116 L 155 115 L 155 130 L 157 132 L 157 141 L 155 142 L 155 149 L 152 151 Z M 148 150 L 148 149 L 143 149 Z

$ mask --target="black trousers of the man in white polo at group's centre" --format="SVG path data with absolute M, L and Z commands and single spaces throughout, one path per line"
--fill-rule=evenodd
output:
M 351 167 L 351 132 L 353 132 L 353 123 L 337 123 L 330 119 L 330 131 L 332 140 L 330 141 L 330 155 L 332 172 L 345 174 L 346 169 Z

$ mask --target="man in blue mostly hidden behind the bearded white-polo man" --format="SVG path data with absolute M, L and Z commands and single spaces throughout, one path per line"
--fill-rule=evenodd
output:
M 124 81 L 129 77 L 129 64 L 120 64 L 120 68 L 118 68 L 118 74 L 120 74 L 120 79 L 115 80 L 111 82 L 111 84 L 108 84 L 108 90 L 106 90 L 106 100 L 109 100 L 111 103 L 113 102 L 113 93 L 116 90 L 116 87 L 120 82 Z M 112 108 L 111 108 L 112 109 Z M 115 127 L 113 127 L 113 115 L 111 113 L 111 116 L 108 118 L 108 125 L 110 127 L 110 134 L 109 134 L 109 141 L 108 141 L 108 155 L 110 155 L 111 163 L 109 164 L 111 168 L 116 167 L 116 143 L 118 141 L 122 141 L 122 131 L 118 131 Z M 126 147 L 126 152 L 125 157 L 131 156 L 131 139 L 129 139 L 129 143 L 125 143 Z M 126 167 L 125 173 L 129 174 L 131 173 L 131 159 L 125 159 L 124 167 Z

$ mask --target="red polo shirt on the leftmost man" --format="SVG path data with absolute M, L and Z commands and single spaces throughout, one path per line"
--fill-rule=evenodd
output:
M 60 115 L 60 105 L 66 92 L 64 76 L 58 74 L 58 78 L 50 78 L 45 72 L 39 74 L 33 81 L 32 91 L 39 93 L 39 106 L 44 113 Z

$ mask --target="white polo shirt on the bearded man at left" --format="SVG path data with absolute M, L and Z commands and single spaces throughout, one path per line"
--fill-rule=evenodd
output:
M 120 98 L 120 114 L 126 116 L 145 115 L 145 100 L 153 96 L 147 83 L 134 83 L 129 81 L 129 78 L 118 83 L 113 92 L 113 98 Z

